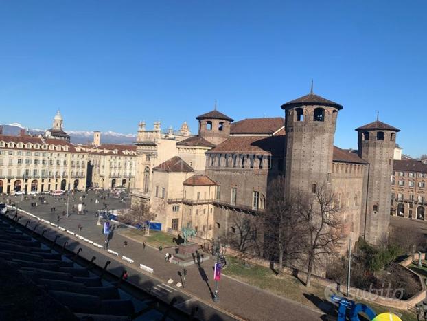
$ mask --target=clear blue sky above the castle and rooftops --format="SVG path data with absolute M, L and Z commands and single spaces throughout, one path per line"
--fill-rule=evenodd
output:
M 402 130 L 427 153 L 427 1 L 0 1 L 0 123 L 67 130 L 163 129 L 214 107 L 235 120 L 284 115 L 310 90 L 357 126 Z

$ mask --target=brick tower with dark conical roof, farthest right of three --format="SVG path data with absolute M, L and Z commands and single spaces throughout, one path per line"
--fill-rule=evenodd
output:
M 358 155 L 369 163 L 363 186 L 360 232 L 367 242 L 378 244 L 389 230 L 393 151 L 400 130 L 377 120 L 356 131 Z

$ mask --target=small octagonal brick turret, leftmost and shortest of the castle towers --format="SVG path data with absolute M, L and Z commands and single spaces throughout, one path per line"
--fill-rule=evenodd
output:
M 208 142 L 218 145 L 230 136 L 230 123 L 233 122 L 229 116 L 216 110 L 209 111 L 197 116 L 198 135 Z

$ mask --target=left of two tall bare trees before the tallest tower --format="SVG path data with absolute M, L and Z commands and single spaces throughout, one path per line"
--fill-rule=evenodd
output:
M 284 264 L 290 265 L 303 253 L 303 243 L 299 241 L 302 220 L 299 217 L 295 202 L 285 197 L 285 179 L 276 177 L 268 185 L 265 212 L 266 248 L 271 257 L 278 259 L 279 269 Z

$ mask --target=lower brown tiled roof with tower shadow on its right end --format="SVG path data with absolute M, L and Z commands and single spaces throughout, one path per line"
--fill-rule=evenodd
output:
M 270 137 L 237 136 L 229 137 L 207 153 L 250 153 L 283 157 L 284 147 L 284 135 Z

